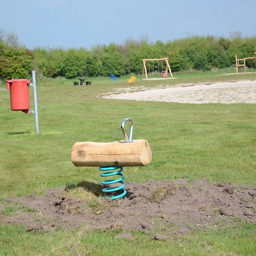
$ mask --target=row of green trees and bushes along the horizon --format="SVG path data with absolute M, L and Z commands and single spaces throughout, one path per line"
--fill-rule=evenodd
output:
M 142 59 L 169 57 L 173 72 L 227 68 L 238 58 L 253 57 L 256 52 L 256 36 L 242 36 L 235 32 L 229 37 L 192 35 L 162 42 L 148 42 L 147 38 L 126 39 L 122 44 L 93 45 L 90 50 L 63 47 L 35 47 L 27 49 L 19 43 L 15 33 L 0 30 L 0 78 L 24 78 L 31 70 L 38 70 L 45 77 L 62 76 L 116 76 L 138 75 L 142 72 Z M 151 71 L 153 62 L 147 63 Z M 246 61 L 255 68 L 255 60 Z M 148 67 L 148 66 L 147 66 Z M 162 70 L 162 62 L 154 62 L 154 70 Z M 164 67 L 165 69 L 165 67 Z

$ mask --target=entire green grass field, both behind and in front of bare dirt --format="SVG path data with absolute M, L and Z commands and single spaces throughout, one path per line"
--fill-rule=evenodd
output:
M 168 81 L 139 81 L 138 77 L 134 86 L 256 79 L 256 74 L 176 77 Z M 9 91 L 1 90 L 0 199 L 82 181 L 100 183 L 97 167 L 71 163 L 71 149 L 77 141 L 123 139 L 120 125 L 126 117 L 134 124 L 133 139 L 146 139 L 153 154 L 148 166 L 125 167 L 126 181 L 206 177 L 214 182 L 256 186 L 255 104 L 189 105 L 97 97 L 130 87 L 128 78 L 117 82 L 95 78 L 84 86 L 74 86 L 73 80 L 65 79 L 37 81 L 39 135 L 35 134 L 34 115 L 11 111 Z M 30 99 L 33 109 L 33 90 Z M 136 239 L 128 241 L 114 239 L 122 230 L 87 233 L 81 227 L 28 233 L 26 227 L 0 222 L 0 255 L 256 255 L 255 228 L 255 224 L 230 227 L 223 223 L 218 229 L 167 241 L 151 241 L 152 234 L 132 231 Z

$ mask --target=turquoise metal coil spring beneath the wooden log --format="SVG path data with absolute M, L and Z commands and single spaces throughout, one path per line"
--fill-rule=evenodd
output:
M 120 170 L 113 172 L 113 170 L 117 170 L 117 169 L 120 169 Z M 120 187 L 104 188 L 104 189 L 102 189 L 102 192 L 104 192 L 104 193 L 111 193 L 111 192 L 115 192 L 115 191 L 120 190 L 120 191 L 123 192 L 121 195 L 110 196 L 109 198 L 117 199 L 117 198 L 123 197 L 126 194 L 126 190 L 124 189 L 125 182 L 123 181 L 124 174 L 121 173 L 124 170 L 124 167 L 100 167 L 99 170 L 101 170 L 101 171 L 109 171 L 109 172 L 101 173 L 100 174 L 101 177 L 108 177 L 108 176 L 113 176 L 113 175 L 121 176 L 121 178 L 119 178 L 117 180 L 104 180 L 104 181 L 101 182 L 101 184 L 109 185 L 109 184 L 113 184 L 113 183 L 122 183 L 123 185 L 120 186 Z M 106 197 L 108 197 L 108 196 L 106 196 Z

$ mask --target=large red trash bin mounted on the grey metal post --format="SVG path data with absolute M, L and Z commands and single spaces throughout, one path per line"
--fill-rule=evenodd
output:
M 10 89 L 11 110 L 21 110 L 28 114 L 29 106 L 29 88 L 31 80 L 12 79 L 6 80 L 6 88 Z

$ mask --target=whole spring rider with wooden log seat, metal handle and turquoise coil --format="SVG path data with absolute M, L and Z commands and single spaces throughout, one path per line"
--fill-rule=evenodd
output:
M 130 122 L 130 134 L 127 137 L 124 124 Z M 145 166 L 151 162 L 152 154 L 147 140 L 132 140 L 133 123 L 131 118 L 125 118 L 121 124 L 121 130 L 125 140 L 115 142 L 76 142 L 71 152 L 71 161 L 75 166 L 101 166 L 99 170 L 107 171 L 101 173 L 101 177 L 119 175 L 121 178 L 116 180 L 102 181 L 102 185 L 121 183 L 120 187 L 108 187 L 102 189 L 104 193 L 118 191 L 119 195 L 109 198 L 117 199 L 126 194 L 124 189 L 125 182 L 123 166 Z M 108 196 L 107 196 L 108 197 Z

